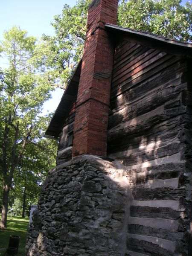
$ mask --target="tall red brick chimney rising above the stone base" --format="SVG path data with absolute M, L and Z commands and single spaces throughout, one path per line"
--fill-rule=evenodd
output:
M 113 67 L 113 44 L 105 23 L 116 24 L 118 0 L 93 0 L 76 102 L 73 157 L 107 154 L 107 128 Z

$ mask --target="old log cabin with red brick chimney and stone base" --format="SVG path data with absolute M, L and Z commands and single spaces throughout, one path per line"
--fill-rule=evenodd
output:
M 192 255 L 192 44 L 117 26 L 117 6 L 90 4 L 27 255 Z

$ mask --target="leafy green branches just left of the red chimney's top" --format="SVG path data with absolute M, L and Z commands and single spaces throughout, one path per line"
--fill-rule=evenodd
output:
M 43 35 L 52 51 L 48 65 L 54 67 L 58 87 L 65 88 L 84 49 L 87 11 L 91 0 L 79 0 L 73 7 L 64 5 L 61 15 L 54 17 L 55 36 Z

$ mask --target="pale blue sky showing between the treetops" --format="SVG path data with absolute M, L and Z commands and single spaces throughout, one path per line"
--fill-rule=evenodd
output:
M 38 38 L 43 33 L 53 35 L 50 23 L 54 15 L 61 14 L 64 4 L 73 6 L 75 3 L 76 0 L 0 0 L 0 40 L 3 32 L 15 25 Z M 183 0 L 182 4 L 185 3 Z M 62 94 L 61 89 L 52 93 L 52 99 L 44 104 L 44 113 L 55 111 Z

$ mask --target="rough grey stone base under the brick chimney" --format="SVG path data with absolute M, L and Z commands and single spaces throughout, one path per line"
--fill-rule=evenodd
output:
M 81 156 L 49 172 L 27 256 L 124 256 L 131 195 L 123 166 Z

